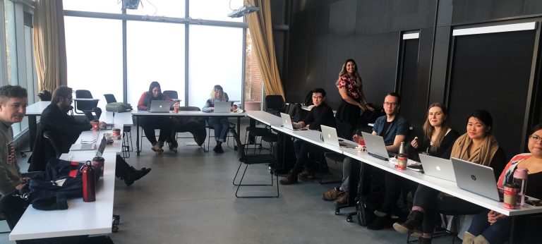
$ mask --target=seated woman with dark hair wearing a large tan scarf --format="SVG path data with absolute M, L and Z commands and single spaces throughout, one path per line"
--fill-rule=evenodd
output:
M 466 118 L 466 133 L 454 142 L 451 157 L 490 166 L 495 178 L 506 164 L 505 153 L 491 133 L 493 118 L 485 110 L 476 110 Z M 394 224 L 396 231 L 419 236 L 418 243 L 431 243 L 436 214 L 478 214 L 484 208 L 457 197 L 440 194 L 438 190 L 420 187 L 414 195 L 412 212 L 402 224 Z

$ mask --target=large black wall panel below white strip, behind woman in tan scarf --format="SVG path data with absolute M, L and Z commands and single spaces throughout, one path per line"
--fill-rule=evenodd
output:
M 452 127 L 465 131 L 475 109 L 493 116 L 493 129 L 508 157 L 519 142 L 529 91 L 534 30 L 455 37 L 450 81 Z

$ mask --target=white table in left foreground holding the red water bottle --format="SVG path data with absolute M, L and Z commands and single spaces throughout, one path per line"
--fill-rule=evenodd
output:
M 94 156 L 95 152 L 79 151 L 62 154 L 61 159 L 71 157 L 71 161 L 86 161 Z M 30 206 L 9 234 L 9 240 L 111 233 L 116 153 L 105 152 L 102 157 L 105 159 L 104 177 L 97 183 L 95 202 L 71 199 L 68 209 L 52 211 Z

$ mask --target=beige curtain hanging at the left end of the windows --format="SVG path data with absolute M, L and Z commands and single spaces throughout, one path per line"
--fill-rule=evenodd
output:
M 35 0 L 34 57 L 40 91 L 68 84 L 62 0 Z

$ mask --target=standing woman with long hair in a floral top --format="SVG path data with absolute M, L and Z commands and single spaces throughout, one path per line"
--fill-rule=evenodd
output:
M 361 111 L 374 111 L 373 107 L 367 104 L 367 99 L 363 94 L 363 85 L 354 59 L 344 61 L 335 85 L 337 85 L 342 97 L 342 102 L 335 116 L 338 121 L 338 131 L 342 138 L 350 138 L 354 133 Z

